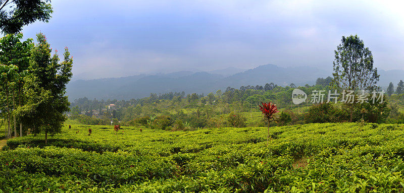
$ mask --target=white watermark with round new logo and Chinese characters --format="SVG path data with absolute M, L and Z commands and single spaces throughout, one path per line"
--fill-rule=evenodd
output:
M 343 102 L 343 103 L 372 103 L 377 102 L 383 103 L 384 101 L 384 90 L 381 91 L 369 91 L 369 90 L 359 90 L 358 92 L 352 90 L 342 90 L 341 93 L 337 93 L 337 90 L 333 92 L 331 90 L 326 92 L 326 90 L 314 90 L 310 95 L 310 103 L 329 103 L 329 102 Z M 300 90 L 294 89 L 292 91 L 292 102 L 293 104 L 301 104 L 306 102 L 308 95 Z

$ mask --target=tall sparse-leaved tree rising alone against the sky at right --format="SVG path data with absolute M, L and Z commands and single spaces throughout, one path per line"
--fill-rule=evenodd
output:
M 380 75 L 377 68 L 373 68 L 372 52 L 365 47 L 358 35 L 342 36 L 341 43 L 334 52 L 334 86 L 353 91 L 376 87 Z M 354 104 L 348 105 L 349 120 L 352 122 Z

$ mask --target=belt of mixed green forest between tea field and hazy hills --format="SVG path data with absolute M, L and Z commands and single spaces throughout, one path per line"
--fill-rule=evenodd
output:
M 318 111 L 321 105 L 313 105 L 309 101 L 295 105 L 292 103 L 292 91 L 295 88 L 301 89 L 306 93 L 312 93 L 314 90 L 330 90 L 331 77 L 318 78 L 316 85 L 305 87 L 296 87 L 291 84 L 287 87 L 280 87 L 273 83 L 264 86 L 241 86 L 239 89 L 228 87 L 224 92 L 221 90 L 215 93 L 187 94 L 165 93 L 150 94 L 150 97 L 141 99 L 125 100 L 89 100 L 88 98 L 79 98 L 71 103 L 70 119 L 77 120 L 83 124 L 100 124 L 125 126 L 152 126 L 147 124 L 147 120 L 166 119 L 168 125 L 156 125 L 163 130 L 178 130 L 178 124 L 187 124 L 187 129 L 214 127 L 214 125 L 233 126 L 233 115 L 239 117 L 237 123 L 239 126 L 263 126 L 265 120 L 261 118 L 261 111 L 258 105 L 261 102 L 272 101 L 281 109 L 278 125 L 285 124 L 304 124 L 304 123 L 322 123 L 322 122 L 346 122 L 349 121 L 348 110 L 346 106 L 340 104 L 324 105 L 328 117 L 309 116 L 313 111 Z M 388 95 L 384 105 L 362 105 L 362 108 L 368 111 L 364 114 L 365 121 L 375 123 L 403 123 L 404 117 L 404 95 L 400 93 L 401 86 L 396 86 L 398 92 Z M 325 96 L 324 100 L 327 100 Z M 114 108 L 109 108 L 114 104 Z M 357 109 L 362 109 L 358 107 Z M 93 115 L 97 112 L 97 116 Z M 311 113 L 309 113 L 311 112 Z M 384 116 L 375 117 L 376 114 L 384 112 Z M 323 117 L 324 114 L 322 115 Z M 151 120 L 151 118 L 153 118 Z M 323 119 L 323 120 L 322 120 Z M 355 112 L 354 121 L 360 121 L 362 113 L 360 110 Z M 111 123 L 111 121 L 113 123 Z M 177 122 L 177 123 L 176 123 Z M 275 122 L 273 125 L 277 125 Z M 180 127 L 182 125 L 180 124 Z M 185 127 L 184 127 L 185 128 Z

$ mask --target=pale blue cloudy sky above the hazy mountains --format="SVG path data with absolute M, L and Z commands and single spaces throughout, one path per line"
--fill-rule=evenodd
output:
M 382 70 L 404 70 L 399 1 L 52 0 L 49 23 L 25 26 L 69 48 L 73 79 L 251 69 L 332 70 L 342 36 L 358 34 Z

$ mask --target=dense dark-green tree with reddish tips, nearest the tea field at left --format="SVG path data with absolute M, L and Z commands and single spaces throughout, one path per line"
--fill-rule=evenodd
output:
M 30 58 L 30 74 L 26 77 L 24 94 L 26 104 L 19 108 L 19 114 L 26 123 L 32 125 L 33 133 L 55 134 L 61 131 L 66 120 L 64 113 L 69 109 L 66 85 L 72 77 L 73 58 L 65 48 L 64 60 L 59 63 L 59 55 L 52 56 L 52 49 L 43 34 L 37 34 L 38 43 L 33 47 Z

